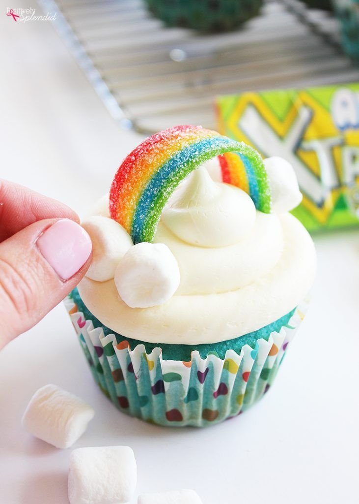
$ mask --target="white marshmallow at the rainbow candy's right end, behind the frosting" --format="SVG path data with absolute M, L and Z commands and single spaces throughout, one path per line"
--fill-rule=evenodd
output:
M 289 212 L 302 201 L 297 175 L 285 159 L 273 156 L 263 161 L 272 190 L 274 212 Z

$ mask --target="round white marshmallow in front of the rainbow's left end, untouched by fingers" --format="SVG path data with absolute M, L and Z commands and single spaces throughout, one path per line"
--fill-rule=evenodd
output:
M 177 261 L 163 243 L 137 243 L 123 257 L 115 284 L 123 301 L 132 308 L 147 308 L 170 299 L 180 285 Z

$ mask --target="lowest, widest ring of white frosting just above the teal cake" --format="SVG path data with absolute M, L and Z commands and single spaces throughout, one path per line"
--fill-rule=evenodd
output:
M 100 283 L 84 278 L 80 296 L 107 327 L 150 343 L 197 345 L 247 334 L 283 317 L 313 283 L 313 241 L 292 215 L 281 215 L 280 222 L 284 235 L 280 261 L 245 287 L 218 294 L 175 294 L 160 306 L 141 309 L 122 301 L 113 280 Z

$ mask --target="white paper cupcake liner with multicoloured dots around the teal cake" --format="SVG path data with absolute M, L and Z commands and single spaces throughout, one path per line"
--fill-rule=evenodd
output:
M 164 360 L 158 347 L 148 354 L 143 344 L 133 350 L 126 340 L 117 344 L 70 297 L 65 306 L 95 381 L 119 410 L 159 425 L 205 427 L 239 415 L 270 389 L 307 302 L 254 348 L 227 350 L 223 359 L 194 351 L 189 362 Z

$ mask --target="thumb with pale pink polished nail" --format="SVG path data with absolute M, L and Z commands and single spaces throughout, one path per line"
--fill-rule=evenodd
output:
M 75 287 L 92 244 L 69 219 L 45 219 L 0 243 L 0 348 L 39 322 Z

